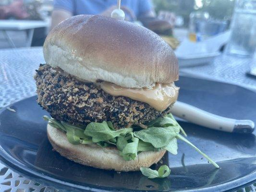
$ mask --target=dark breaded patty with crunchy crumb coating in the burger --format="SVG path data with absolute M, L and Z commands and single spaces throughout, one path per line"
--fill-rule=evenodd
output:
M 111 96 L 97 84 L 40 65 L 35 75 L 37 102 L 52 118 L 71 124 L 112 121 L 115 129 L 141 125 L 166 113 L 124 96 Z

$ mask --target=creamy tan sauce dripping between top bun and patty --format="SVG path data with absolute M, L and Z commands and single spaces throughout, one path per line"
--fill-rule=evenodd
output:
M 126 88 L 109 82 L 102 82 L 100 87 L 112 96 L 126 96 L 147 103 L 158 111 L 163 111 L 175 103 L 179 93 L 179 87 L 176 87 L 174 83 L 156 83 L 153 88 Z

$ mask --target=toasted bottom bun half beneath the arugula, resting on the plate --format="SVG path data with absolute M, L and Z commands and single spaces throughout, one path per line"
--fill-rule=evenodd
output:
M 69 143 L 64 132 L 48 124 L 47 135 L 53 148 L 70 160 L 94 168 L 114 169 L 116 171 L 137 171 L 157 163 L 166 150 L 141 152 L 135 160 L 125 161 L 119 156 L 116 147 L 100 147 L 97 144 Z

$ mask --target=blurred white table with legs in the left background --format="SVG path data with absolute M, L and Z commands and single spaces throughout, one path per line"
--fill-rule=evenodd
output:
M 33 21 L 33 20 L 0 20 L 0 31 L 3 32 L 6 39 L 15 48 L 12 38 L 8 35 L 7 31 L 28 31 L 25 47 L 30 47 L 35 28 L 49 27 L 50 22 L 46 21 Z

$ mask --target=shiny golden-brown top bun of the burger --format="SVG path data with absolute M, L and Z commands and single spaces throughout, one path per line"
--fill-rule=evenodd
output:
M 151 87 L 178 80 L 171 47 L 154 32 L 100 15 L 78 15 L 53 28 L 44 58 L 82 80 L 123 87 Z

